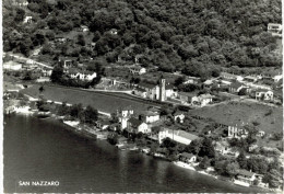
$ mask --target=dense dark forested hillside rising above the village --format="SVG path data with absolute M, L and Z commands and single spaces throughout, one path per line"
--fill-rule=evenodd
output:
M 212 73 L 221 67 L 281 67 L 277 41 L 268 23 L 282 23 L 281 0 L 28 0 L 27 8 L 3 1 L 4 50 L 26 56 L 43 46 L 49 56 L 92 56 L 107 62 L 134 61 L 163 71 Z M 33 24 L 23 24 L 33 15 Z M 81 36 L 50 49 L 57 34 L 80 25 Z M 116 28 L 117 34 L 109 31 Z M 72 49 L 71 49 L 72 48 Z

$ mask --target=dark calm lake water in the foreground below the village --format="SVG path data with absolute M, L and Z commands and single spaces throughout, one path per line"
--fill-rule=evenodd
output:
M 78 136 L 56 121 L 11 115 L 4 122 L 4 191 L 9 193 L 261 191 L 118 150 L 107 141 Z M 35 181 L 58 181 L 59 186 L 32 185 Z

